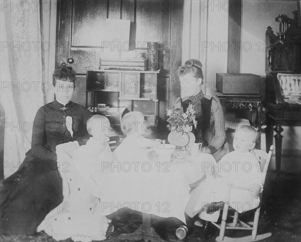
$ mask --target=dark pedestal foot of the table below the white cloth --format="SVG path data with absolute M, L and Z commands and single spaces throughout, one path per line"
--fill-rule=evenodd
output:
M 138 241 L 143 239 L 145 242 L 166 242 L 166 240 L 161 238 L 155 229 L 150 226 L 150 216 L 150 214 L 142 213 L 142 225 L 133 233 L 122 233 L 118 236 L 118 238 L 129 241 Z

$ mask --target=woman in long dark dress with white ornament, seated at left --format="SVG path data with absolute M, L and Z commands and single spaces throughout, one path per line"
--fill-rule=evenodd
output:
M 1 233 L 34 234 L 36 227 L 62 200 L 56 146 L 78 140 L 86 133 L 92 113 L 71 100 L 75 72 L 62 64 L 53 73 L 55 100 L 35 117 L 32 148 L 19 170 L 1 187 Z M 59 169 L 67 169 L 60 164 Z

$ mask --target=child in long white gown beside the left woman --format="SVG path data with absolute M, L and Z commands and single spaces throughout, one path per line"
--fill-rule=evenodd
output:
M 63 202 L 53 209 L 38 226 L 55 240 L 71 237 L 73 241 L 103 240 L 110 220 L 102 216 L 100 196 L 105 186 L 101 162 L 111 162 L 113 156 L 107 141 L 110 123 L 105 116 L 93 115 L 87 121 L 92 136 L 78 147 L 69 142 L 57 146 L 58 164 L 63 179 Z M 65 185 L 64 185 L 65 184 Z

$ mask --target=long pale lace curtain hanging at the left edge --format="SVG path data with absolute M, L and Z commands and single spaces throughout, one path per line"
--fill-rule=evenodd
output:
M 4 178 L 31 148 L 33 120 L 44 105 L 39 1 L 5 1 L 1 13 L 1 102 L 6 121 Z

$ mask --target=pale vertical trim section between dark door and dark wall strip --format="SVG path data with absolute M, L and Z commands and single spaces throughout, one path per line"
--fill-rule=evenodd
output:
M 228 4 L 214 0 L 184 3 L 182 63 L 188 59 L 202 62 L 203 88 L 209 95 L 215 91 L 216 73 L 227 72 Z

